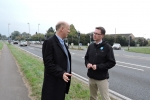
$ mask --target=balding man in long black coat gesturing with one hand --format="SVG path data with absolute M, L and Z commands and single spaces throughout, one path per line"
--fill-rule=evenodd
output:
M 70 33 L 70 25 L 58 22 L 56 34 L 45 40 L 42 47 L 44 82 L 41 100 L 64 100 L 71 79 L 71 55 L 64 38 Z

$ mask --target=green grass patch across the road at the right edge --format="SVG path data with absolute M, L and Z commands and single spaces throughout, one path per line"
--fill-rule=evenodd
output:
M 129 50 L 128 49 L 125 50 L 129 52 L 150 54 L 150 47 L 134 47 L 134 48 L 130 48 Z

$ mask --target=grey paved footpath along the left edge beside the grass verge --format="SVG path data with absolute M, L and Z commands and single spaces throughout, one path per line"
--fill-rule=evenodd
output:
M 6 44 L 0 51 L 0 100 L 31 100 L 15 59 Z

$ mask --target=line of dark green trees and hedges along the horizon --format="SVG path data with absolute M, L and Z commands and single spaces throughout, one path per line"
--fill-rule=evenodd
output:
M 44 41 L 46 38 L 51 37 L 55 34 L 55 30 L 53 27 L 48 28 L 46 33 L 37 33 L 35 32 L 33 35 L 23 32 L 20 33 L 19 31 L 14 31 L 11 33 L 11 39 L 12 40 L 26 40 L 26 41 Z M 6 36 L 0 34 L 0 38 L 6 38 Z M 78 32 L 75 29 L 74 25 L 70 25 L 70 34 L 68 35 L 68 43 L 74 43 L 74 45 L 78 45 Z M 129 39 L 122 36 L 122 35 L 116 35 L 116 37 L 112 35 L 105 35 L 104 40 L 107 41 L 110 45 L 113 45 L 113 43 L 120 43 L 121 46 L 128 46 Z M 88 43 L 93 42 L 92 33 L 81 33 L 80 34 L 80 43 L 82 45 L 87 45 Z M 136 46 L 136 44 L 139 44 L 140 46 L 146 46 L 148 45 L 148 40 L 145 38 L 136 38 L 132 39 L 130 38 L 130 46 Z

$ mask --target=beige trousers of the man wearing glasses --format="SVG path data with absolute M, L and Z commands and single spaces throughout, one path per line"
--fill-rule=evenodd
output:
M 95 80 L 89 78 L 89 88 L 90 88 L 90 100 L 97 100 L 98 90 L 101 94 L 102 100 L 110 100 L 109 97 L 109 83 L 108 79 L 105 80 Z

